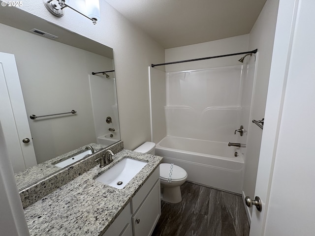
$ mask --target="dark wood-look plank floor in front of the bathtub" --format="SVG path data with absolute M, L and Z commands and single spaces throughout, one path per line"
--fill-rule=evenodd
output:
M 185 182 L 182 202 L 161 203 L 152 236 L 249 236 L 241 196 Z

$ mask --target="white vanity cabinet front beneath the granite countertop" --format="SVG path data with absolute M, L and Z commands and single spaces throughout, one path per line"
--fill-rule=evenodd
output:
M 103 236 L 151 236 L 160 215 L 158 167 Z

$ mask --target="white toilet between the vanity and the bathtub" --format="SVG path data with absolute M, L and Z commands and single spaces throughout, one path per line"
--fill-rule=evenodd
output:
M 155 148 L 155 143 L 145 142 L 134 151 L 154 155 Z M 168 203 L 181 202 L 181 185 L 187 179 L 187 172 L 174 164 L 161 163 L 159 165 L 159 179 L 161 181 L 161 200 Z

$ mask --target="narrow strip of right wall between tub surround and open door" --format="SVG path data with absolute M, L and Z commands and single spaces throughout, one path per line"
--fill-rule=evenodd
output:
M 267 0 L 250 33 L 250 48 L 258 48 L 250 120 L 264 118 L 270 65 L 278 12 L 278 0 Z M 268 122 L 268 120 L 267 120 Z M 243 189 L 254 197 L 262 130 L 251 123 L 248 133 Z M 252 209 L 252 208 L 251 208 Z

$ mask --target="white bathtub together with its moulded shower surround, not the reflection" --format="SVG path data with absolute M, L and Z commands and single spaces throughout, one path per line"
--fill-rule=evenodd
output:
M 255 67 L 255 57 L 248 59 L 243 65 L 166 73 L 166 137 L 156 155 L 184 168 L 188 181 L 242 191 Z M 242 136 L 236 132 L 240 125 Z

